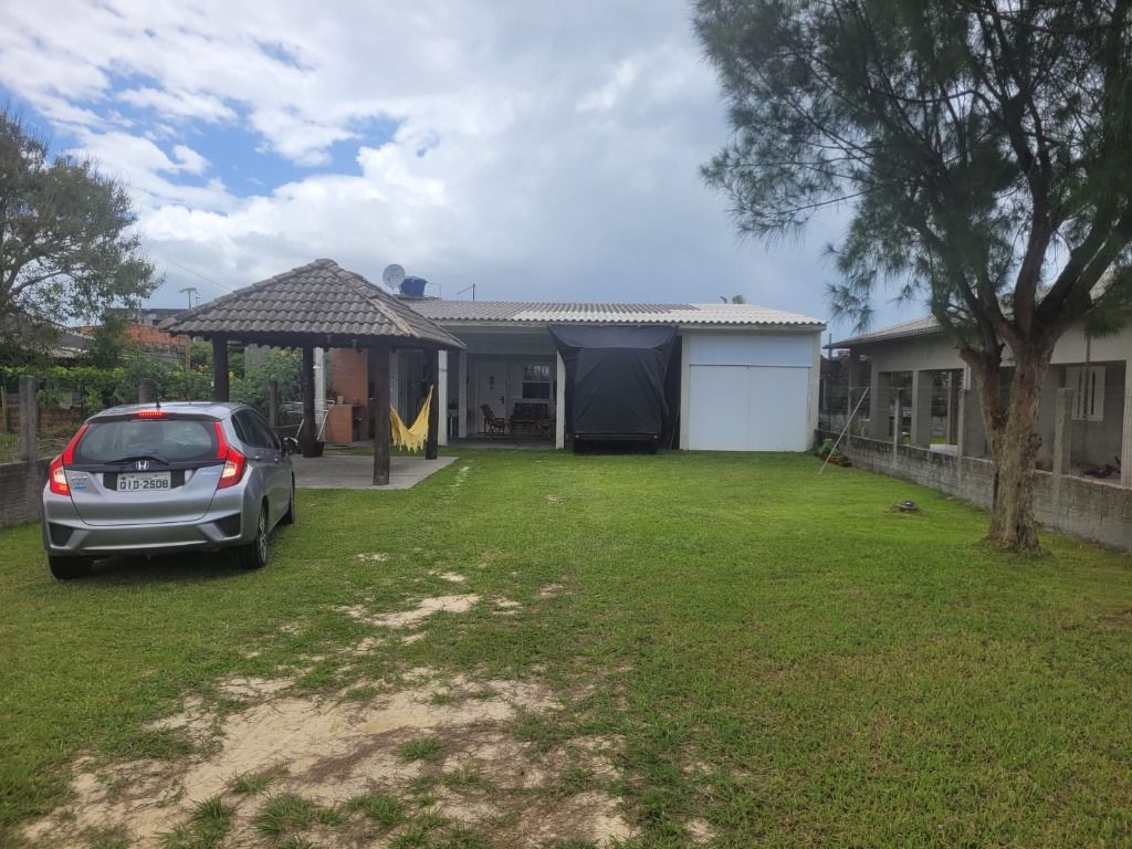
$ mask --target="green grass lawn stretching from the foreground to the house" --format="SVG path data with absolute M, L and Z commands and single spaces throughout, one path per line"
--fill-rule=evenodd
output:
M 37 526 L 0 531 L 0 844 L 66 798 L 79 753 L 185 757 L 144 723 L 300 655 L 316 658 L 308 692 L 366 698 L 430 667 L 569 694 L 515 732 L 617 740 L 607 786 L 632 846 L 684 846 L 693 821 L 720 847 L 1132 843 L 1132 558 L 1057 537 L 1044 557 L 1005 556 L 979 542 L 978 511 L 818 465 L 468 452 L 408 492 L 301 491 L 259 573 L 112 561 L 57 583 Z M 890 511 L 909 497 L 920 514 Z M 430 571 L 522 607 L 438 615 L 363 662 L 335 654 L 380 633 L 342 606 L 456 592 Z M 426 763 L 443 748 L 406 746 Z M 332 829 L 410 809 L 272 804 L 265 835 L 283 833 L 269 816 Z M 400 846 L 492 844 L 404 827 Z

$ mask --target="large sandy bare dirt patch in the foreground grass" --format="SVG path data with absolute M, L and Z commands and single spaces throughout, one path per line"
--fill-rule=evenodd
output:
M 269 794 L 298 794 L 333 807 L 381 791 L 405 800 L 406 809 L 414 809 L 411 782 L 435 775 L 440 783 L 429 809 L 480 830 L 500 847 L 555 840 L 606 846 L 632 837 L 619 800 L 607 789 L 616 778 L 612 757 L 619 741 L 584 737 L 540 751 L 512 735 L 521 713 L 563 707 L 559 695 L 541 683 L 443 676 L 418 667 L 398 681 L 375 681 L 379 692 L 363 702 L 342 698 L 345 691 L 289 693 L 290 684 L 233 678 L 218 689 L 252 702 L 242 710 L 224 715 L 189 698 L 180 714 L 154 723 L 205 743 L 191 757 L 109 765 L 77 761 L 71 800 L 32 823 L 24 835 L 66 849 L 85 846 L 84 832 L 119 827 L 131 846 L 156 849 L 161 834 L 188 822 L 196 803 L 218 795 L 234 808 L 224 844 L 267 847 L 255 829 L 266 796 L 237 796 L 232 787 L 240 775 L 271 772 L 276 778 Z M 408 761 L 398 754 L 405 743 L 422 737 L 440 741 L 435 760 Z M 578 771 L 592 780 L 564 789 L 566 775 Z M 353 846 L 361 839 L 351 832 L 362 827 L 353 820 L 335 827 L 318 826 L 325 831 L 317 835 L 320 846 Z

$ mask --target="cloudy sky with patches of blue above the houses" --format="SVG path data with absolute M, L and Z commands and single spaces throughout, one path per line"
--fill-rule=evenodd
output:
M 0 94 L 128 181 L 165 275 L 156 306 L 331 257 L 374 281 L 401 263 L 445 298 L 741 293 L 824 318 L 823 246 L 844 212 L 803 240 L 737 240 L 698 174 L 728 128 L 691 14 L 680 0 L 9 3 Z

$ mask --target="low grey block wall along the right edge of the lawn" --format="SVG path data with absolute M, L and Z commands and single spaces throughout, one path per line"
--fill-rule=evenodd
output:
M 821 434 L 822 438 L 830 434 Z M 837 438 L 837 434 L 832 438 Z M 986 460 L 893 446 L 849 437 L 842 440 L 854 465 L 911 483 L 931 487 L 978 507 L 989 508 L 994 466 Z M 1062 477 L 1060 492 L 1050 472 L 1034 474 L 1034 507 L 1046 528 L 1132 551 L 1132 489 L 1087 478 Z

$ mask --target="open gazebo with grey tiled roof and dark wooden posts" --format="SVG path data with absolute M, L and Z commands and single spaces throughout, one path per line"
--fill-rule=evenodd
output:
M 228 343 L 302 350 L 303 430 L 300 445 L 315 444 L 315 349 L 365 348 L 374 384 L 374 483 L 389 482 L 389 353 L 423 349 L 439 371 L 441 350 L 464 344 L 430 319 L 332 259 L 276 274 L 166 319 L 161 328 L 213 344 L 213 400 L 229 400 Z M 438 404 L 431 406 L 426 457 L 436 457 Z

